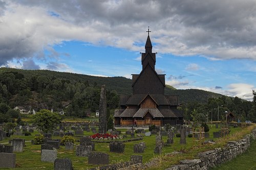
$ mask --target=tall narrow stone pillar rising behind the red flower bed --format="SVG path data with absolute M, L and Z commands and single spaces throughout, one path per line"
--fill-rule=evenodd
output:
M 100 100 L 99 100 L 99 133 L 106 133 L 106 89 L 105 85 L 101 86 Z

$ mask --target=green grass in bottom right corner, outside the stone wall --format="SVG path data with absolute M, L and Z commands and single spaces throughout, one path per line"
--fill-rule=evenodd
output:
M 217 167 L 211 168 L 210 170 L 255 170 L 256 169 L 256 140 L 251 143 L 250 148 L 243 154 L 238 155 L 231 161 L 225 162 Z

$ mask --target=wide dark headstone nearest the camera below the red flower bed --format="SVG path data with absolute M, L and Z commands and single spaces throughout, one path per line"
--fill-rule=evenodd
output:
M 110 156 L 102 152 L 91 152 L 88 155 L 88 163 L 99 165 L 99 164 L 109 164 Z

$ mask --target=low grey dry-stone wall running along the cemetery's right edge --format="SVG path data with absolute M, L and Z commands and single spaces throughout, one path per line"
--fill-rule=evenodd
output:
M 165 170 L 206 170 L 225 161 L 229 161 L 239 154 L 244 153 L 250 147 L 251 137 L 256 137 L 256 129 L 250 135 L 246 135 L 238 141 L 229 141 L 224 148 L 202 152 L 198 159 L 181 160 L 180 164 L 169 167 Z

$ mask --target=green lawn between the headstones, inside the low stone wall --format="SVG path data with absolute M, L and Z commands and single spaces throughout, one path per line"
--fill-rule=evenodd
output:
M 245 134 L 249 134 L 250 131 L 255 128 L 256 125 L 246 127 L 244 129 L 241 128 L 230 128 L 231 132 L 228 138 L 225 139 L 216 139 L 213 138 L 213 132 L 219 131 L 220 129 L 215 129 L 215 126 L 209 125 L 210 128 L 210 139 L 214 139 L 217 141 L 216 144 L 193 146 L 193 139 L 186 137 L 187 144 L 181 145 L 179 144 L 180 138 L 174 137 L 174 144 L 169 147 L 163 147 L 162 154 L 154 154 L 155 144 L 156 144 L 156 135 L 152 136 L 144 136 L 143 140 L 130 141 L 125 142 L 124 153 L 111 153 L 109 149 L 109 143 L 96 143 L 95 142 L 95 150 L 97 152 L 104 152 L 110 155 L 110 164 L 129 161 L 131 155 L 142 155 L 143 163 L 150 161 L 151 159 L 156 159 L 156 166 L 151 167 L 150 169 L 165 169 L 167 167 L 172 166 L 173 164 L 178 163 L 182 159 L 193 159 L 197 155 L 197 153 L 202 151 L 211 150 L 218 147 L 223 147 L 228 140 L 237 140 L 242 138 Z M 126 129 L 117 129 L 121 130 L 122 134 L 126 131 Z M 32 133 L 32 136 L 11 136 L 11 138 L 23 138 L 26 139 L 26 147 L 24 147 L 23 153 L 16 153 L 16 168 L 17 170 L 25 170 L 25 169 L 53 169 L 53 163 L 42 162 L 40 155 L 40 145 L 31 144 L 30 140 L 34 138 L 34 135 L 38 134 L 38 132 Z M 93 135 L 92 132 L 84 132 L 85 136 Z M 130 136 L 130 135 L 128 135 Z M 80 136 L 74 136 L 75 139 L 79 139 Z M 8 143 L 8 140 L 11 138 L 5 138 L 0 141 L 0 143 Z M 55 137 L 53 138 L 61 138 Z M 163 136 L 163 141 L 166 142 L 167 136 Z M 126 138 L 130 139 L 130 137 Z M 134 154 L 133 153 L 133 145 L 135 143 L 139 143 L 144 141 L 146 144 L 146 149 L 142 154 Z M 79 142 L 75 142 L 75 144 L 79 144 Z M 256 144 L 255 144 L 256 145 Z M 75 147 L 74 147 L 75 148 Z M 173 151 L 180 151 L 183 154 L 178 155 L 169 155 L 165 156 L 166 153 L 171 153 Z M 72 164 L 74 165 L 76 170 L 89 169 L 92 167 L 97 167 L 97 165 L 88 164 L 88 157 L 77 157 L 75 156 L 75 149 L 73 151 L 66 151 L 65 146 L 60 146 L 60 149 L 57 150 L 58 158 L 70 158 L 72 160 Z M 4 169 L 4 168 L 0 168 Z M 247 168 L 248 169 L 248 168 Z

